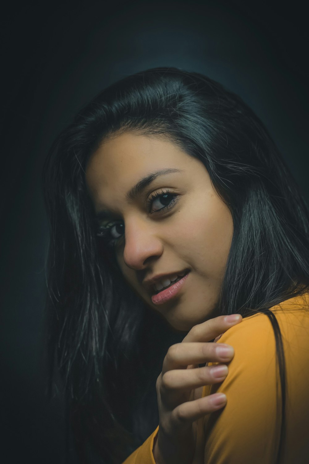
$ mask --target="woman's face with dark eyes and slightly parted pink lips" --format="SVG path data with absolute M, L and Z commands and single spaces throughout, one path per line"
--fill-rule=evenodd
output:
M 127 132 L 101 143 L 86 182 L 99 239 L 114 240 L 132 289 L 175 329 L 214 317 L 233 220 L 202 162 L 162 136 Z

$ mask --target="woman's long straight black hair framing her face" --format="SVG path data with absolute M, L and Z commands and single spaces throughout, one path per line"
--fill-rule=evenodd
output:
M 155 381 L 184 334 L 133 293 L 96 236 L 85 166 L 104 137 L 162 135 L 202 161 L 233 218 L 217 314 L 264 311 L 274 329 L 285 433 L 285 363 L 269 310 L 309 291 L 309 209 L 259 118 L 195 72 L 155 68 L 109 86 L 57 137 L 44 164 L 50 220 L 47 330 L 82 463 L 122 462 L 158 425 Z M 279 392 L 278 392 L 279 395 Z M 92 451 L 91 451 L 92 450 Z

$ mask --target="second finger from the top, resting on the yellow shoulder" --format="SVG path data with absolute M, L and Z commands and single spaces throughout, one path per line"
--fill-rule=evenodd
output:
M 225 343 L 175 343 L 170 346 L 164 357 L 162 374 L 172 369 L 186 369 L 189 364 L 228 362 L 233 355 L 233 347 Z

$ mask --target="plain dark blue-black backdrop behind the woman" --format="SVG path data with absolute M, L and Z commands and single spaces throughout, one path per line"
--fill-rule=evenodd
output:
M 202 72 L 265 122 L 308 201 L 307 14 L 295 2 L 42 1 L 10 3 L 1 22 L 0 460 L 63 463 L 63 402 L 44 396 L 42 348 L 53 138 L 128 74 Z

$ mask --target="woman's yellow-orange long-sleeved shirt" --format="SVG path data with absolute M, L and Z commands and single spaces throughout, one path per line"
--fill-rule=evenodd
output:
M 281 330 L 286 363 L 286 440 L 281 462 L 306 464 L 309 294 L 290 298 L 271 311 Z M 281 388 L 271 322 L 263 313 L 246 317 L 216 342 L 233 346 L 235 354 L 226 379 L 203 387 L 202 396 L 222 392 L 227 404 L 196 421 L 193 464 L 273 464 L 281 425 Z M 123 464 L 156 464 L 152 448 L 157 433 L 158 427 Z

